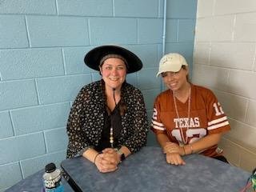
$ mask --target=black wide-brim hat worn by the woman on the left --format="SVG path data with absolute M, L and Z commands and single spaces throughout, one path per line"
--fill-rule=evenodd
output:
M 142 61 L 140 58 L 130 50 L 126 50 L 121 46 L 97 46 L 86 54 L 84 62 L 86 63 L 86 66 L 99 71 L 99 65 L 102 58 L 108 54 L 118 54 L 126 59 L 127 74 L 142 69 Z

